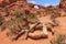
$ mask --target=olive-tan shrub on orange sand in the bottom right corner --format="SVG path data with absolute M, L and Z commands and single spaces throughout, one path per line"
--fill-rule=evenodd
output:
M 51 44 L 66 44 L 66 35 L 59 34 L 51 41 Z

